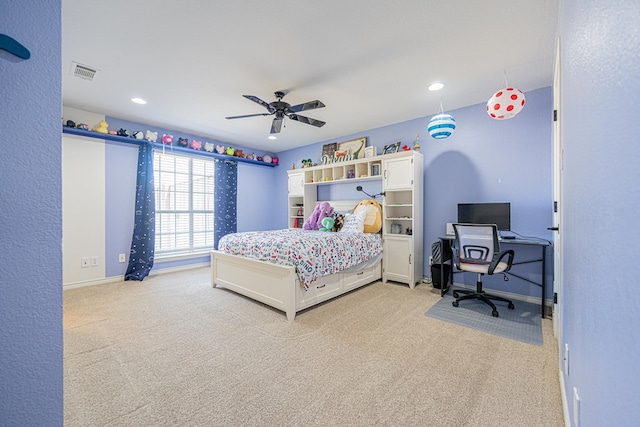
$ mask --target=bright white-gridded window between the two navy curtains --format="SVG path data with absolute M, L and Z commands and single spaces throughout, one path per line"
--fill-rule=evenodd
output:
M 154 153 L 156 256 L 213 248 L 214 162 Z

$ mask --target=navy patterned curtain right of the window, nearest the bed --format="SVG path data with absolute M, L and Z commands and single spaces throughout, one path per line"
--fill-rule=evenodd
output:
M 238 163 L 215 159 L 213 190 L 214 228 L 213 248 L 218 249 L 220 238 L 238 230 L 236 218 L 238 200 Z

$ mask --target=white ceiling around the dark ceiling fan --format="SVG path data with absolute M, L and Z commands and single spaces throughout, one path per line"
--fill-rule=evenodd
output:
M 269 152 L 338 140 L 486 102 L 505 75 L 550 86 L 558 1 L 63 0 L 63 103 Z M 285 119 L 270 141 L 273 116 L 225 119 L 277 90 L 327 124 Z

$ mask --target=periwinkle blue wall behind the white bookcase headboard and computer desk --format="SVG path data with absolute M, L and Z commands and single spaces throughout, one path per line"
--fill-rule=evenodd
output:
M 429 136 L 427 124 L 432 116 L 427 116 L 278 153 L 283 166 L 275 172 L 278 228 L 287 226 L 286 169 L 290 169 L 292 163 L 296 168 L 301 167 L 302 159 L 310 158 L 321 163 L 322 146 L 331 142 L 366 136 L 367 145 L 377 147 L 378 153 L 382 153 L 385 145 L 397 141 L 412 147 L 416 134 L 419 134 L 424 156 L 425 260 L 431 255 L 431 243 L 445 234 L 446 223 L 457 220 L 458 203 L 510 202 L 513 231 L 523 236 L 550 240 L 552 235 L 547 227 L 552 225 L 553 212 L 553 92 L 547 87 L 525 95 L 525 108 L 510 120 L 491 119 L 484 103 L 447 111 L 457 124 L 456 131 L 447 139 L 436 140 Z M 318 197 L 321 200 L 367 198 L 354 191 L 357 185 L 375 194 L 381 191 L 382 184 L 367 181 L 320 186 Z M 539 247 L 518 246 L 515 249 L 518 261 L 540 257 Z M 547 260 L 546 298 L 550 299 L 552 249 L 547 250 Z M 516 269 L 518 274 L 529 280 L 537 283 L 542 280 L 540 264 L 518 266 L 514 271 Z M 431 276 L 428 262 L 425 262 L 424 275 Z M 461 274 L 456 275 L 455 280 L 474 285 L 476 277 L 473 274 Z M 486 277 L 485 283 L 487 288 L 540 297 L 539 286 L 517 278 L 504 282 L 502 276 Z

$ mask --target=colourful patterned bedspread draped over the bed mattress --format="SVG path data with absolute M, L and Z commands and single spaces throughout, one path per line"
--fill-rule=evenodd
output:
M 218 250 L 231 255 L 296 267 L 305 290 L 320 276 L 353 267 L 382 252 L 371 233 L 328 233 L 301 229 L 227 234 Z

